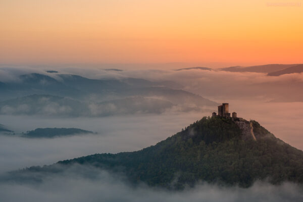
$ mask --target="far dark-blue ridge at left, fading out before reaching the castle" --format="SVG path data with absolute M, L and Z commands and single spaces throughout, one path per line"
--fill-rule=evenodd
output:
M 1 82 L 0 100 L 4 97 L 14 98 L 30 94 L 54 94 L 82 98 L 89 94 L 108 96 L 119 91 L 135 89 L 137 87 L 169 87 L 179 89 L 182 86 L 173 81 L 148 81 L 136 78 L 121 79 L 90 79 L 73 74 L 54 74 L 54 76 L 30 73 L 19 76 L 20 81 Z

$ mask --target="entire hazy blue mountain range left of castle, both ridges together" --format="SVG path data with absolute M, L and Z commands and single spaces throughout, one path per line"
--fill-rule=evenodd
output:
M 50 71 L 48 71 L 50 72 Z M 79 75 L 23 74 L 0 83 L 0 114 L 110 116 L 201 110 L 217 103 L 181 90 L 173 81 L 89 79 Z M 17 97 L 16 97 L 17 96 Z M 6 100 L 5 100 L 6 99 Z

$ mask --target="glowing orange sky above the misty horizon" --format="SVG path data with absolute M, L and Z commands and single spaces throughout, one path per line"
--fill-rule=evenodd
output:
M 296 0 L 2 0 L 0 25 L 2 64 L 303 63 Z

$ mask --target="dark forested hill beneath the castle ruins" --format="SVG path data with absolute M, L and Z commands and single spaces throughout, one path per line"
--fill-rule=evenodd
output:
M 257 140 L 247 136 L 245 124 L 253 127 Z M 58 165 L 66 168 L 74 163 L 123 172 L 134 184 L 145 182 L 172 189 L 193 186 L 199 181 L 242 187 L 256 180 L 269 180 L 273 184 L 303 182 L 301 150 L 276 138 L 256 121 L 236 123 L 221 117 L 204 117 L 139 151 L 95 154 L 22 172 L 52 172 L 55 168 L 58 172 Z

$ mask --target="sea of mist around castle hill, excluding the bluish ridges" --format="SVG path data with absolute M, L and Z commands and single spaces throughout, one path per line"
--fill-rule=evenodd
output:
M 47 70 L 53 69 L 47 68 Z M 303 149 L 301 138 L 303 95 L 300 93 L 303 87 L 302 74 L 269 77 L 263 73 L 208 70 L 106 71 L 98 68 L 85 69 L 85 71 L 80 68 L 54 68 L 54 70 L 93 79 L 133 77 L 150 81 L 174 81 L 181 84 L 183 90 L 209 98 L 217 103 L 229 103 L 231 113 L 237 112 L 238 117 L 247 120 L 254 119 L 276 137 L 298 149 Z M 44 70 L 38 70 L 37 68 L 20 67 L 12 69 L 10 67 L 0 68 L 0 81 L 19 82 L 18 76 L 32 72 L 47 74 L 58 79 L 56 74 L 45 73 Z M 94 101 L 98 100 L 98 95 L 89 95 L 87 99 L 92 99 L 91 97 L 94 97 Z M 149 98 L 161 97 L 150 96 Z M 172 100 L 179 101 L 175 97 Z M 179 105 L 169 106 L 169 110 L 163 107 L 165 110 L 150 114 L 149 112 L 154 111 L 154 104 L 150 107 L 145 101 L 142 102 L 144 105 L 141 105 L 141 109 L 147 109 L 148 113 L 145 113 L 146 110 L 139 110 L 138 113 L 137 105 L 131 105 L 131 107 L 127 105 L 121 108 L 122 113 L 120 108 L 113 108 L 110 113 L 111 116 L 106 115 L 106 117 L 81 117 L 73 114 L 76 110 L 69 110 L 68 112 L 71 113 L 69 116 L 65 116 L 66 111 L 61 110 L 60 113 L 62 114 L 60 115 L 62 116 L 57 116 L 56 110 L 60 110 L 58 106 L 47 108 L 47 112 L 52 116 L 46 116 L 46 112 L 40 114 L 27 113 L 29 116 L 20 116 L 13 114 L 18 114 L 15 113 L 16 109 L 26 111 L 26 106 L 12 107 L 12 109 L 9 109 L 11 111 L 6 111 L 6 115 L 0 115 L 0 124 L 16 133 L 35 128 L 74 127 L 97 132 L 97 134 L 51 139 L 29 139 L 13 135 L 0 135 L 0 174 L 30 166 L 49 165 L 60 160 L 95 153 L 119 153 L 121 151 L 139 150 L 154 145 L 179 132 L 194 121 L 204 116 L 211 116 L 212 111 L 217 111 L 216 106 L 213 109 L 198 110 L 184 102 L 182 107 Z M 129 103 L 134 104 L 132 100 Z M 159 103 L 156 103 L 156 105 L 161 107 Z M 80 109 L 78 105 L 75 106 L 74 108 L 70 107 L 71 109 Z M 189 106 L 188 110 L 184 106 Z M 96 114 L 104 113 L 104 109 L 111 110 L 107 105 L 102 106 L 102 108 L 93 107 L 92 112 Z M 124 113 L 125 109 L 131 113 Z M 6 108 L 6 110 L 8 109 Z M 301 187 L 292 183 L 274 186 L 266 182 L 256 182 L 247 189 L 200 183 L 192 189 L 187 188 L 180 192 L 172 192 L 150 188 L 144 184 L 133 187 L 123 180 L 123 176 L 112 175 L 106 171 L 84 167 L 74 167 L 72 169 L 77 172 L 68 170 L 59 176 L 46 176 L 40 184 L 0 182 L 0 201 L 303 200 Z M 79 175 L 79 172 L 86 173 L 86 176 Z

